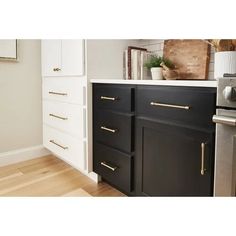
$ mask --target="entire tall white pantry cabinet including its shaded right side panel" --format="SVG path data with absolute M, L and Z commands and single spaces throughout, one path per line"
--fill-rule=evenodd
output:
M 90 79 L 122 79 L 131 40 L 42 40 L 43 144 L 94 178 Z

